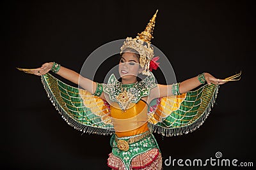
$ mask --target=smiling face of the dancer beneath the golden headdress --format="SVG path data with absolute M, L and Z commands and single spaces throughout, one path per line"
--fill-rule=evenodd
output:
M 129 80 L 130 78 L 134 78 L 134 76 L 137 77 L 141 70 L 140 60 L 136 53 L 123 53 L 118 67 L 118 71 L 122 79 Z

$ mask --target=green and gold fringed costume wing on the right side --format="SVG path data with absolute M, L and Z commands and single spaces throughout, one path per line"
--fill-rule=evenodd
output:
M 195 131 L 208 117 L 219 85 L 204 85 L 187 93 L 156 99 L 150 104 L 148 127 L 163 136 Z

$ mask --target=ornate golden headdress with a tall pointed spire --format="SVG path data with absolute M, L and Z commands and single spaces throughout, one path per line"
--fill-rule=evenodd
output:
M 157 10 L 158 11 L 158 10 Z M 126 48 L 132 48 L 140 53 L 140 66 L 144 68 L 142 74 L 149 75 L 150 60 L 154 57 L 154 49 L 150 44 L 150 40 L 153 38 L 152 34 L 156 23 L 156 14 L 151 18 L 146 29 L 138 33 L 136 38 L 127 37 L 124 41 L 124 45 L 121 46 L 121 52 L 124 52 Z

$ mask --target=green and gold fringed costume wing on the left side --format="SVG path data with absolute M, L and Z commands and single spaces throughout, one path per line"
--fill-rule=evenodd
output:
M 47 73 L 41 76 L 49 99 L 68 125 L 78 131 L 109 135 L 115 131 L 106 101 Z

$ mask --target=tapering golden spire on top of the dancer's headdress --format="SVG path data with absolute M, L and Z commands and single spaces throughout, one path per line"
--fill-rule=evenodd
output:
M 138 33 L 138 36 L 136 37 L 137 39 L 141 39 L 147 43 L 150 43 L 150 40 L 153 38 L 152 34 L 153 34 L 155 23 L 156 23 L 157 11 L 155 15 L 151 18 L 150 22 L 148 22 L 146 29 L 140 34 Z

